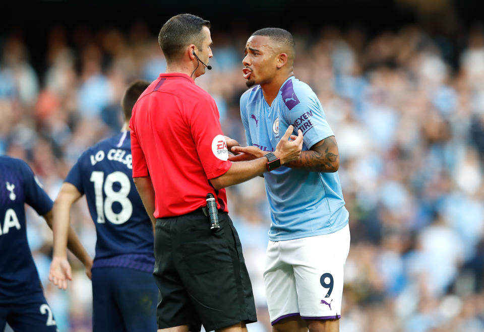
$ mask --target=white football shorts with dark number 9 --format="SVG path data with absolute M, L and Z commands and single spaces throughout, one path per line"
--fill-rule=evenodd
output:
M 331 234 L 269 241 L 264 284 L 274 325 L 283 318 L 341 317 L 349 226 Z

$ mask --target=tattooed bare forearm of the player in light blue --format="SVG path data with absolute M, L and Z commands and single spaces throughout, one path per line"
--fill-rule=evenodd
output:
M 330 136 L 319 141 L 309 151 L 302 151 L 299 159 L 284 166 L 304 168 L 310 172 L 336 172 L 339 168 L 339 152 L 335 137 Z

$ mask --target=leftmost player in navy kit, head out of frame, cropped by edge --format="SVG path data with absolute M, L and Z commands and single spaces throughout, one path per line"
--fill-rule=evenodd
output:
M 20 159 L 0 156 L 0 331 L 9 323 L 16 332 L 52 332 L 57 326 L 27 242 L 25 203 L 52 226 L 52 201 L 30 167 Z M 68 231 L 69 249 L 89 275 L 91 257 L 74 231 Z

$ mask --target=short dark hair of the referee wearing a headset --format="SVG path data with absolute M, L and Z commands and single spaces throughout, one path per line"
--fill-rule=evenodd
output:
M 195 44 L 201 49 L 204 39 L 203 27 L 210 29 L 210 21 L 192 14 L 176 15 L 166 21 L 158 35 L 158 43 L 166 62 L 179 59 L 185 47 L 190 44 Z

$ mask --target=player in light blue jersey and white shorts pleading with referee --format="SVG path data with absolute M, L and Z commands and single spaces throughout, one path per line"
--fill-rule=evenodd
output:
M 289 125 L 300 129 L 299 159 L 264 173 L 271 227 L 264 283 L 274 331 L 338 331 L 343 267 L 349 251 L 338 147 L 318 97 L 293 76 L 292 35 L 277 28 L 247 41 L 244 78 L 251 89 L 240 98 L 247 147 L 234 160 L 269 162 Z

